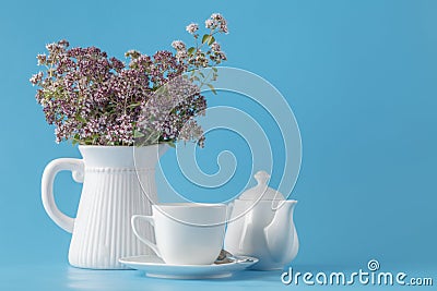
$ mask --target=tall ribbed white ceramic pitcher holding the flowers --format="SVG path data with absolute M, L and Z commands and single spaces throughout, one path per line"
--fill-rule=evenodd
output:
M 165 145 L 79 146 L 83 159 L 60 158 L 47 165 L 43 205 L 59 227 L 72 233 L 72 266 L 120 269 L 126 268 L 118 262 L 120 257 L 152 253 L 135 239 L 130 218 L 151 214 L 147 196 L 156 202 L 155 165 L 165 149 Z M 74 181 L 83 183 L 75 218 L 62 214 L 55 204 L 54 180 L 62 170 L 72 171 Z M 150 226 L 144 225 L 141 231 L 153 239 Z

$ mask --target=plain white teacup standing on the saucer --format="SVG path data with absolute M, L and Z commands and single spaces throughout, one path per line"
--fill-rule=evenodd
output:
M 156 244 L 139 233 L 137 220 L 154 227 Z M 153 205 L 152 216 L 132 216 L 131 225 L 166 264 L 210 265 L 222 250 L 225 221 L 225 204 L 173 203 Z

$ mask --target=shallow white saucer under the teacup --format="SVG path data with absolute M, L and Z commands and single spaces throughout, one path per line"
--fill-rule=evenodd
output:
M 215 279 L 231 277 L 235 271 L 246 269 L 258 262 L 255 257 L 237 257 L 249 262 L 232 262 L 212 265 L 168 265 L 156 255 L 131 256 L 119 262 L 133 269 L 145 271 L 145 276 L 166 279 Z

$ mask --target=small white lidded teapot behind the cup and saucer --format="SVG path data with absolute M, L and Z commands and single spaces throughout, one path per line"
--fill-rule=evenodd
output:
M 297 255 L 299 242 L 293 222 L 297 201 L 268 186 L 265 171 L 255 174 L 258 185 L 234 201 L 224 248 L 234 255 L 259 258 L 253 269 L 282 269 Z

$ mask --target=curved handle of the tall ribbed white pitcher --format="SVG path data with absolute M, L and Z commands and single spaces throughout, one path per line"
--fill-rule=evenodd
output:
M 44 209 L 47 215 L 67 232 L 73 232 L 74 218 L 62 214 L 56 206 L 54 197 L 54 181 L 58 172 L 68 170 L 72 172 L 73 180 L 78 183 L 83 183 L 84 163 L 82 159 L 61 158 L 50 161 L 43 172 L 42 179 L 42 198 Z

